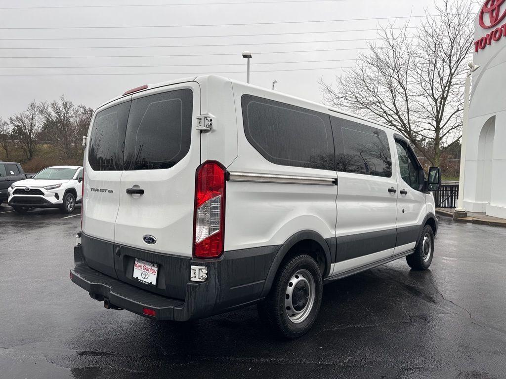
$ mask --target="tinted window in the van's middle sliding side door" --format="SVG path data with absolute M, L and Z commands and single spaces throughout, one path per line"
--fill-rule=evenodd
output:
M 335 144 L 335 169 L 373 176 L 392 176 L 387 133 L 358 122 L 330 117 Z

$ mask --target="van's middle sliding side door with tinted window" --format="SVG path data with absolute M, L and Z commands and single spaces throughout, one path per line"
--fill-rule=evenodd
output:
M 339 180 L 335 275 L 393 255 L 398 192 L 391 131 L 345 115 L 331 120 Z

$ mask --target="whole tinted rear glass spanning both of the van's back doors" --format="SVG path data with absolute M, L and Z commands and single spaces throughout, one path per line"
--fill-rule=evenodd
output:
M 95 171 L 170 168 L 190 150 L 193 92 L 178 89 L 99 112 L 88 160 Z

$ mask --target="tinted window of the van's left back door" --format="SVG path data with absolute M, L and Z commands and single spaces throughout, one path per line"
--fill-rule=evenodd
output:
M 123 143 L 130 102 L 97 113 L 91 133 L 88 160 L 95 171 L 123 169 Z

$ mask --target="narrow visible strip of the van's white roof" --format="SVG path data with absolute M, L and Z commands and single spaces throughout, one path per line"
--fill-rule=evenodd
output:
M 190 77 L 180 78 L 180 79 L 174 79 L 174 80 L 166 80 L 166 81 L 162 81 L 162 82 L 159 82 L 159 83 L 147 84 L 147 87 L 145 89 L 143 89 L 143 90 L 140 90 L 139 92 L 144 91 L 144 90 L 148 90 L 148 89 L 152 89 L 152 88 L 163 87 L 165 85 L 173 85 L 173 84 L 185 83 L 185 82 L 189 82 L 189 81 L 196 81 L 196 82 L 207 81 L 211 77 L 214 78 L 215 80 L 230 81 L 230 82 L 234 83 L 234 85 L 238 85 L 238 86 L 251 87 L 251 88 L 257 88 L 257 89 L 260 89 L 260 90 L 264 90 L 266 93 L 272 93 L 273 92 L 272 90 L 267 89 L 265 87 L 260 87 L 258 85 L 244 83 L 243 81 L 239 81 L 239 80 L 235 80 L 235 79 L 230 79 L 230 78 L 227 78 L 227 77 L 224 77 L 224 76 L 220 76 L 220 75 L 200 75 L 200 76 L 190 76 Z M 344 111 L 341 111 L 341 110 L 336 109 L 336 108 L 331 108 L 331 107 L 325 106 L 324 104 L 321 104 L 321 103 L 316 103 L 316 102 L 313 102 L 313 101 L 310 101 L 310 100 L 307 100 L 307 99 L 299 98 L 297 96 L 292 96 L 292 95 L 290 95 L 288 93 L 283 93 L 283 92 L 278 92 L 278 91 L 274 91 L 274 92 L 282 94 L 284 97 L 286 97 L 286 99 L 293 99 L 293 100 L 302 101 L 302 102 L 305 102 L 305 103 L 312 104 L 315 107 L 321 108 L 322 111 L 335 112 L 335 113 L 338 113 L 338 114 L 342 114 L 342 115 L 345 115 L 345 116 L 348 116 L 348 117 L 352 117 L 352 118 L 355 118 L 355 119 L 358 119 L 358 120 L 366 121 L 366 122 L 369 122 L 371 124 L 375 124 L 375 125 L 378 125 L 378 126 L 381 126 L 381 127 L 384 127 L 384 128 L 387 128 L 387 129 L 390 129 L 390 130 L 393 130 L 393 131 L 396 131 L 394 128 L 392 128 L 392 127 L 390 127 L 388 125 L 382 124 L 382 123 L 374 121 L 374 120 L 370 120 L 370 119 L 362 117 L 362 116 L 358 116 L 358 115 L 353 114 L 353 113 L 344 112 Z M 102 108 L 104 105 L 109 104 L 109 103 L 111 103 L 111 102 L 113 102 L 113 101 L 115 101 L 117 99 L 120 99 L 120 98 L 122 98 L 124 96 L 130 96 L 130 94 L 125 94 L 125 95 L 121 94 L 120 96 L 117 96 L 117 97 L 109 100 L 108 102 L 102 104 L 97 109 Z

